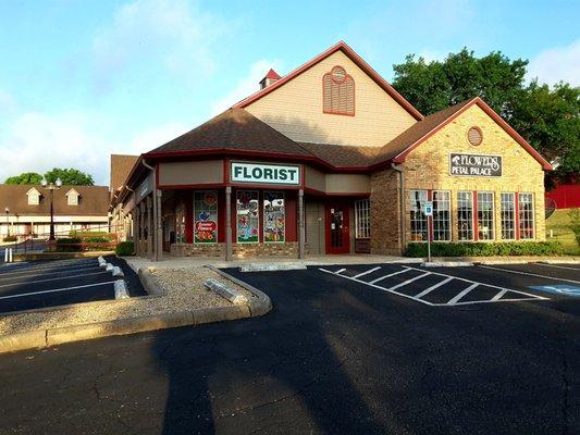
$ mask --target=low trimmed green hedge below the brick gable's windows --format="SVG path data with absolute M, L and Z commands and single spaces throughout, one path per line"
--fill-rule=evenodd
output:
M 497 241 L 497 243 L 432 243 L 432 257 L 507 257 L 559 256 L 564 248 L 559 241 Z M 427 257 L 427 244 L 412 243 L 405 251 L 407 257 Z

